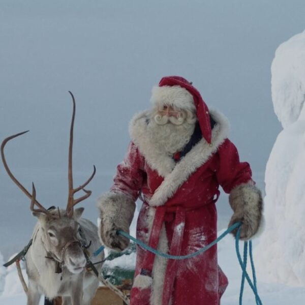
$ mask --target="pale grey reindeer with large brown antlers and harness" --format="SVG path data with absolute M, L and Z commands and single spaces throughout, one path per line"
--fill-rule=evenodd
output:
M 26 273 L 28 276 L 27 305 L 38 305 L 41 294 L 53 299 L 62 296 L 63 305 L 89 305 L 99 286 L 98 278 L 93 272 L 86 269 L 89 253 L 101 247 L 98 237 L 98 228 L 89 220 L 81 218 L 83 207 L 74 206 L 91 195 L 85 190 L 86 185 L 96 173 L 94 171 L 88 180 L 78 188 L 73 188 L 72 175 L 72 146 L 73 127 L 75 118 L 75 100 L 73 101 L 73 114 L 70 127 L 68 181 L 69 195 L 66 210 L 59 208 L 44 208 L 36 199 L 36 190 L 32 184 L 32 194 L 29 193 L 10 171 L 4 147 L 8 141 L 25 132 L 6 138 L 1 145 L 1 156 L 4 167 L 23 193 L 31 199 L 31 210 L 38 218 L 32 235 L 32 246 L 25 255 Z M 85 194 L 74 199 L 78 191 Z M 36 207 L 35 207 L 36 206 Z M 104 259 L 102 252 L 96 258 Z M 97 265 L 100 271 L 102 265 Z

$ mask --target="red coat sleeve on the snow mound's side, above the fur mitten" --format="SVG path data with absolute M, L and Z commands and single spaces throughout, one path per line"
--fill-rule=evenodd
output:
M 249 163 L 240 162 L 235 145 L 228 139 L 218 149 L 219 168 L 216 172 L 219 184 L 226 193 L 236 186 L 252 181 Z

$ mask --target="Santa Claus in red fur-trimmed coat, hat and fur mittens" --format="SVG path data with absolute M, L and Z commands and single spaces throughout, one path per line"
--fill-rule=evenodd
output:
M 140 197 L 137 238 L 171 255 L 194 253 L 217 238 L 220 186 L 234 211 L 229 226 L 242 222 L 241 238 L 251 238 L 260 227 L 262 197 L 249 164 L 239 161 L 227 138 L 227 118 L 209 110 L 192 83 L 178 76 L 162 78 L 151 102 L 131 120 L 128 153 L 99 199 L 104 244 L 119 251 L 128 246 L 116 231 L 129 232 Z M 217 246 L 186 260 L 138 247 L 131 305 L 218 305 L 227 285 Z

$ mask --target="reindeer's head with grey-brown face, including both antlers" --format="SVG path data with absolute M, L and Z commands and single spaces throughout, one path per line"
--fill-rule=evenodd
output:
M 40 228 L 43 231 L 43 243 L 50 258 L 56 260 L 60 264 L 64 264 L 68 270 L 72 273 L 81 272 L 86 264 L 86 258 L 84 256 L 83 250 L 86 241 L 84 240 L 81 227 L 78 223 L 84 208 L 77 208 L 74 210 L 74 206 L 80 201 L 86 199 L 91 195 L 91 191 L 87 191 L 84 188 L 92 180 L 96 173 L 96 168 L 94 166 L 94 171 L 88 180 L 77 188 L 73 188 L 73 174 L 72 174 L 72 148 L 73 148 L 73 127 L 75 118 L 75 100 L 73 94 L 69 91 L 72 101 L 73 101 L 73 114 L 70 128 L 70 144 L 69 144 L 69 166 L 68 166 L 68 184 L 69 184 L 69 194 L 68 203 L 66 210 L 53 208 L 46 209 L 36 200 L 36 189 L 34 183 L 32 184 L 32 194 L 29 193 L 15 178 L 15 176 L 10 171 L 5 155 L 4 147 L 6 143 L 16 138 L 25 132 L 18 133 L 16 135 L 6 138 L 1 145 L 1 157 L 4 167 L 15 182 L 15 184 L 25 193 L 25 195 L 31 199 L 31 210 L 33 215 L 38 218 L 40 223 Z M 82 190 L 85 194 L 77 199 L 74 199 L 74 194 Z M 36 207 L 35 207 L 36 206 Z

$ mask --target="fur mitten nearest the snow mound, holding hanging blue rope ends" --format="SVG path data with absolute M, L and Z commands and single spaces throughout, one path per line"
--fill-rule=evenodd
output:
M 241 184 L 231 191 L 229 202 L 234 211 L 229 227 L 241 222 L 240 239 L 250 239 L 262 225 L 263 199 L 260 190 L 252 181 Z M 232 231 L 234 236 L 237 230 Z

